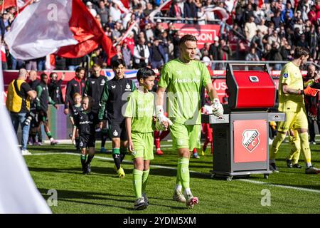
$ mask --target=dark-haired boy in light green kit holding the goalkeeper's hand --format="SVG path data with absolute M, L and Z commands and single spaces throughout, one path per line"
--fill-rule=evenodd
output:
M 156 73 L 150 68 L 140 68 L 137 72 L 139 88 L 129 98 L 124 113 L 128 135 L 129 152 L 134 160 L 133 187 L 137 198 L 134 209 L 146 209 L 146 182 L 149 177 L 150 160 L 154 159 L 154 130 L 166 130 L 166 119 L 156 123 L 154 94 L 149 92 L 154 86 Z M 156 124 L 155 124 L 156 123 Z

